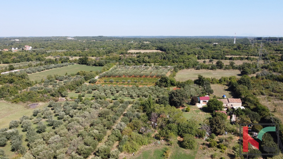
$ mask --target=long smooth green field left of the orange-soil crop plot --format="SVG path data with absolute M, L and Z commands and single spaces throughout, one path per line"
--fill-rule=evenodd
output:
M 87 65 L 70 65 L 61 68 L 55 68 L 52 70 L 46 70 L 42 72 L 32 73 L 29 74 L 29 78 L 31 80 L 41 80 L 42 78 L 46 77 L 47 75 L 65 75 L 67 72 L 68 74 L 77 73 L 78 71 L 101 71 L 102 67 L 99 66 L 87 66 Z

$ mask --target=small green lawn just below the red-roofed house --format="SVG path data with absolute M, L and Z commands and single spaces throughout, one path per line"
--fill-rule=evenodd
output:
M 190 112 L 183 112 L 183 115 L 186 119 L 196 119 L 197 124 L 201 124 L 204 119 L 211 117 L 210 113 L 203 112 L 197 106 L 190 106 L 190 109 Z

